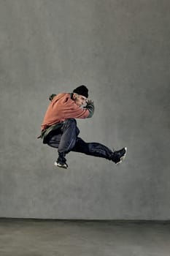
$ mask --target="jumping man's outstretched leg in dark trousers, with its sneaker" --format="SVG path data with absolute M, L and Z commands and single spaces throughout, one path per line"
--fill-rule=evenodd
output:
M 126 148 L 122 148 L 119 151 L 112 151 L 101 143 L 85 143 L 81 138 L 77 138 L 72 151 L 88 154 L 93 157 L 102 157 L 108 160 L 112 160 L 115 164 L 122 162 L 125 157 Z

